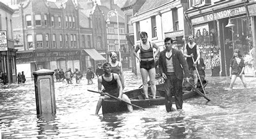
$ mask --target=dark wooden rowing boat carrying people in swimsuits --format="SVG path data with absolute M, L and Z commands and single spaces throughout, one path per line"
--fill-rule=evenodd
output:
M 208 81 L 203 80 L 204 87 L 207 85 Z M 157 97 L 156 99 L 145 99 L 145 95 L 143 93 L 142 88 L 134 89 L 132 91 L 127 91 L 126 94 L 130 99 L 131 103 L 137 105 L 142 108 L 149 108 L 150 106 L 157 106 L 157 105 L 165 105 L 165 92 L 164 92 L 164 84 L 156 85 L 157 87 Z M 190 88 L 189 88 L 190 89 Z M 200 91 L 203 91 L 201 87 L 198 88 Z M 152 96 L 151 89 L 148 89 L 149 96 Z M 187 91 L 187 88 L 183 88 L 183 100 L 193 98 L 197 96 L 198 93 L 195 91 Z M 174 102 L 174 97 L 173 97 Z M 133 109 L 137 109 L 133 107 Z M 127 110 L 127 106 L 123 102 L 119 102 L 113 99 L 106 99 L 102 103 L 102 113 L 117 113 L 117 112 L 124 112 Z

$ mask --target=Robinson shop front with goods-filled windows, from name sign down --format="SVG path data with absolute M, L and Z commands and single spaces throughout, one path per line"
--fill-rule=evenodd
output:
M 253 75 L 251 20 L 246 16 L 244 4 L 229 5 L 225 8 L 204 13 L 203 16 L 190 17 L 192 33 L 204 59 L 206 70 L 212 76 L 230 75 L 230 59 L 233 51 L 239 49 L 245 60 L 245 74 Z M 228 19 L 234 24 L 226 27 Z

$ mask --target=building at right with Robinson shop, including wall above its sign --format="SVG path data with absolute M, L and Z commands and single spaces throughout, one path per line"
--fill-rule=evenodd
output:
M 254 76 L 254 46 L 249 1 L 190 1 L 185 17 L 212 76 L 230 75 L 230 59 L 239 49 L 244 55 L 245 75 Z M 228 27 L 229 19 L 232 26 Z M 255 41 L 254 41 L 255 42 Z

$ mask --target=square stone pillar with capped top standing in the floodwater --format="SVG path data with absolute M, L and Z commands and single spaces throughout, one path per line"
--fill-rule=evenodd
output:
M 41 69 L 33 72 L 35 77 L 37 114 L 56 114 L 55 89 L 52 70 Z

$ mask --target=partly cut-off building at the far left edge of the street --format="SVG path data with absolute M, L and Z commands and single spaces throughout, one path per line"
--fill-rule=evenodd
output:
M 8 76 L 8 82 L 17 81 L 16 72 L 16 52 L 14 47 L 13 29 L 12 25 L 14 20 L 12 19 L 12 10 L 9 6 L 0 2 L 0 39 L 1 39 L 1 49 L 0 49 L 0 76 L 2 73 L 6 73 Z M 5 39 L 4 39 L 5 38 Z M 6 46 L 7 44 L 7 46 Z M 5 47 L 5 48 L 4 48 Z M 3 48 L 3 49 L 2 49 Z

